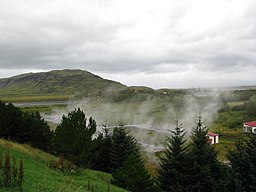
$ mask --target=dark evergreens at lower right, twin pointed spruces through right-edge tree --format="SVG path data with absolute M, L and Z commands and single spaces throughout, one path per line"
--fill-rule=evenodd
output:
M 160 159 L 157 178 L 161 191 L 256 191 L 256 137 L 239 141 L 228 152 L 229 163 L 217 159 L 217 152 L 208 141 L 208 129 L 201 117 L 187 144 L 186 132 L 177 122 Z

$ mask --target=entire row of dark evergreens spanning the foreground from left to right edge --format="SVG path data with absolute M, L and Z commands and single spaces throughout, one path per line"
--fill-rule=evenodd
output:
M 223 163 L 207 132 L 199 117 L 188 142 L 177 122 L 153 180 L 138 143 L 122 124 L 113 131 L 105 125 L 103 133 L 97 133 L 96 121 L 77 108 L 63 115 L 56 130 L 50 131 L 39 113 L 24 113 L 0 102 L 0 137 L 50 151 L 76 166 L 111 173 L 113 184 L 130 191 L 256 191 L 255 136 L 237 143 L 228 153 L 229 163 Z

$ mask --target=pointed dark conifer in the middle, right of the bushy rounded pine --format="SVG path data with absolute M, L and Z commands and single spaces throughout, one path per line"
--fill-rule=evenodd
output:
M 134 137 L 128 135 L 128 132 L 121 123 L 115 127 L 112 135 L 112 147 L 110 149 L 111 172 L 121 167 L 128 155 L 137 150 L 137 144 Z

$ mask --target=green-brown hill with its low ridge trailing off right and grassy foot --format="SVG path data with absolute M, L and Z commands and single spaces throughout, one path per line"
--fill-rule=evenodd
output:
M 128 87 L 83 70 L 54 70 L 0 79 L 0 99 L 11 102 L 80 100 L 97 98 L 110 102 L 141 102 L 184 95 L 184 90 Z

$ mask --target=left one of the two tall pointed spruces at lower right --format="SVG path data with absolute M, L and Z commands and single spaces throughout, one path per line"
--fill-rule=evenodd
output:
M 163 191 L 185 191 L 188 182 L 186 132 L 178 121 L 176 123 L 175 130 L 167 137 L 164 156 L 160 158 L 158 183 Z

